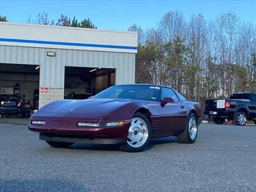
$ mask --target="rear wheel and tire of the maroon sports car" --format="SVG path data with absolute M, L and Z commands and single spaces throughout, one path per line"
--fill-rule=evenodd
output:
M 190 114 L 186 119 L 186 129 L 177 135 L 178 142 L 193 143 L 198 137 L 198 118 L 195 114 Z

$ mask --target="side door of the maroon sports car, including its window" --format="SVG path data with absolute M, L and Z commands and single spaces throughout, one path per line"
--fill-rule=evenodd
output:
M 162 87 L 161 98 L 173 98 L 174 102 L 168 102 L 160 106 L 162 136 L 178 134 L 186 123 L 186 105 L 180 102 L 174 90 Z

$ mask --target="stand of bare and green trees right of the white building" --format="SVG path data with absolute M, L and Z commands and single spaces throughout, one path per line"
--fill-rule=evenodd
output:
M 186 22 L 181 13 L 170 11 L 157 28 L 143 31 L 143 38 L 138 82 L 170 85 L 199 102 L 256 91 L 256 29 L 234 13 L 210 22 L 197 14 Z

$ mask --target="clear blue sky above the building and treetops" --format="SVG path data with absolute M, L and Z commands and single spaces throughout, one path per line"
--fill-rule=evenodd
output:
M 127 30 L 133 24 L 145 30 L 156 26 L 170 10 L 182 12 L 186 19 L 200 13 L 206 21 L 232 11 L 256 25 L 256 0 L 0 0 L 0 15 L 10 22 L 33 21 L 45 11 L 50 20 L 57 21 L 60 14 L 90 18 L 105 30 Z

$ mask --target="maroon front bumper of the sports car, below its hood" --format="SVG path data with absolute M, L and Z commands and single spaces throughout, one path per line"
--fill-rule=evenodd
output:
M 29 130 L 38 132 L 39 139 L 54 142 L 84 142 L 94 144 L 118 144 L 126 141 L 130 120 L 121 120 L 123 126 L 80 127 L 78 120 L 46 120 L 45 125 L 29 125 Z M 56 122 L 58 122 L 56 124 Z

